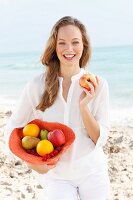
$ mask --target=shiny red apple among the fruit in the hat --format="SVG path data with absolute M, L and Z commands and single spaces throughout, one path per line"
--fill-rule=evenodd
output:
M 61 146 L 65 144 L 65 135 L 60 129 L 55 129 L 48 133 L 48 140 L 55 146 Z

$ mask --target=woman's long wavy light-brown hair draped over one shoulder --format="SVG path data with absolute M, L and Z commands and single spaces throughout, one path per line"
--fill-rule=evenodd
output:
M 86 32 L 85 26 L 76 18 L 71 16 L 65 16 L 61 18 L 54 25 L 51 35 L 48 39 L 46 49 L 42 56 L 42 64 L 46 66 L 46 78 L 45 78 L 45 91 L 42 95 L 39 105 L 36 109 L 45 111 L 56 100 L 59 90 L 58 73 L 60 68 L 60 61 L 56 54 L 56 42 L 59 28 L 67 25 L 74 25 L 79 28 L 82 34 L 83 40 L 83 53 L 79 61 L 80 68 L 83 68 L 88 63 L 91 56 L 91 47 L 89 37 Z

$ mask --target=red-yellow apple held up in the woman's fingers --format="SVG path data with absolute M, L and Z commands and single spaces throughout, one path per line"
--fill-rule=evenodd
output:
M 88 82 L 91 82 L 92 84 L 96 84 L 97 80 L 94 74 L 84 74 L 80 79 L 79 79 L 79 84 L 81 87 L 87 89 L 88 91 L 90 91 L 90 87 L 88 85 Z M 94 85 L 93 84 L 93 85 Z

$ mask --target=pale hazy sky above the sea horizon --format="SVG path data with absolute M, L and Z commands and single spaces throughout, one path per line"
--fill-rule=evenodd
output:
M 0 53 L 42 51 L 65 15 L 83 22 L 93 47 L 133 45 L 133 0 L 0 0 Z

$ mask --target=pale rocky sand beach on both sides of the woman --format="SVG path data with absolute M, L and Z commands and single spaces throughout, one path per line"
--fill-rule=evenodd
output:
M 7 107 L 0 108 L 0 199 L 47 200 L 42 186 L 26 164 L 5 146 L 3 128 L 11 116 Z M 104 152 L 108 158 L 111 192 L 108 200 L 133 199 L 133 129 L 111 124 Z

